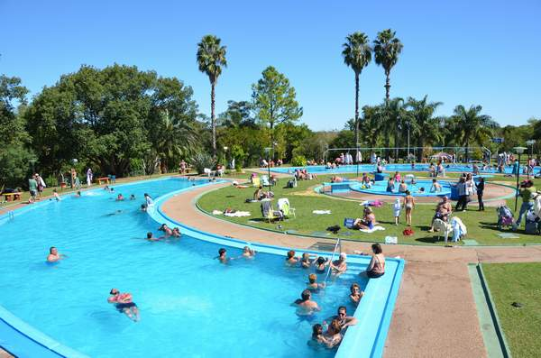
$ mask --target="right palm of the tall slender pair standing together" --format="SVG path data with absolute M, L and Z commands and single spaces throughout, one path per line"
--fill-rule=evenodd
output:
M 399 54 L 404 45 L 395 37 L 397 32 L 390 29 L 378 32 L 376 40 L 374 40 L 374 57 L 376 64 L 380 65 L 385 71 L 385 102 L 390 100 L 390 70 L 399 61 Z M 398 119 L 397 119 L 398 120 Z M 399 129 L 395 130 L 395 147 L 399 142 Z M 398 157 L 399 150 L 395 150 L 395 157 Z M 395 158 L 396 160 L 397 158 Z

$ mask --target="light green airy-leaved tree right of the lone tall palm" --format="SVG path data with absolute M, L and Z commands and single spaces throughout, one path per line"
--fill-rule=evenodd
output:
M 275 126 L 295 123 L 302 116 L 302 107 L 298 106 L 295 96 L 295 88 L 289 85 L 289 79 L 272 66 L 264 69 L 262 78 L 252 84 L 255 117 L 260 124 L 269 126 L 273 153 Z

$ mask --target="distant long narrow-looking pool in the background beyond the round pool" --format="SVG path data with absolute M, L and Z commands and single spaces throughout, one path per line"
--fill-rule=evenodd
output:
M 429 164 L 416 164 L 415 168 L 411 168 L 411 164 L 387 164 L 383 170 L 385 171 L 427 171 Z M 326 169 L 325 165 L 314 165 L 307 167 L 274 167 L 271 168 L 271 171 L 277 173 L 293 173 L 295 170 L 306 169 L 310 173 L 316 174 L 335 174 L 335 173 L 354 173 L 357 171 L 356 165 L 341 165 L 335 169 Z M 261 168 L 261 170 L 267 170 L 266 168 Z M 360 164 L 359 173 L 373 173 L 376 171 L 376 166 L 374 164 Z M 471 165 L 465 164 L 445 164 L 445 171 L 452 172 L 472 172 Z M 497 173 L 497 170 L 491 168 L 489 170 L 479 170 L 481 173 Z M 512 167 L 505 167 L 505 173 L 510 174 L 513 169 Z M 537 174 L 541 172 L 541 167 L 534 168 L 534 173 Z

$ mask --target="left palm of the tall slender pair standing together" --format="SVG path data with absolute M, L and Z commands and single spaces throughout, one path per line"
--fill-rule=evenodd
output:
M 359 142 L 359 76 L 371 61 L 371 46 L 364 32 L 353 32 L 342 45 L 344 63 L 355 73 L 355 145 Z

